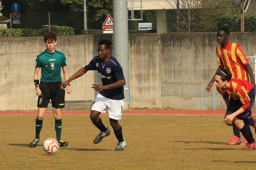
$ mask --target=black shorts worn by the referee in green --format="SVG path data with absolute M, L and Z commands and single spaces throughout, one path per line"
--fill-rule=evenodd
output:
M 50 99 L 53 108 L 65 108 L 65 90 L 61 82 L 40 82 L 42 96 L 38 96 L 38 108 L 47 108 Z

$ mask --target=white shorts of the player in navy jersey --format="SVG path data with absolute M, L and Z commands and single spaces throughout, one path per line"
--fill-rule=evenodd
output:
M 106 113 L 108 109 L 109 118 L 115 120 L 122 119 L 122 111 L 124 108 L 124 100 L 108 99 L 107 97 L 98 94 L 93 102 L 91 110 Z

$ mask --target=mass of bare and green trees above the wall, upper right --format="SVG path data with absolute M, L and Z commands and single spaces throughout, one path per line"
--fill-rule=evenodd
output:
M 239 26 L 233 16 L 239 16 L 240 3 L 234 0 L 169 0 L 166 5 L 173 9 L 169 16 L 174 16 L 169 19 L 174 23 L 169 28 L 177 32 L 211 32 L 230 25 L 230 21 Z

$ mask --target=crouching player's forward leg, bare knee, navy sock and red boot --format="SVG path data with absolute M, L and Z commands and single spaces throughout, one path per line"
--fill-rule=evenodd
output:
M 233 120 L 234 124 L 239 128 L 240 132 L 244 136 L 244 138 L 247 140 L 248 144 L 243 150 L 255 150 L 256 149 L 256 143 L 253 139 L 252 131 L 250 130 L 250 126 L 247 126 L 244 124 L 243 120 L 234 118 Z

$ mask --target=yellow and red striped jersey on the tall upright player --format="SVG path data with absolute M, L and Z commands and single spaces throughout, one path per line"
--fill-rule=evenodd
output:
M 216 47 L 216 57 L 220 68 L 227 68 L 232 74 L 232 78 L 249 81 L 245 65 L 249 64 L 244 51 L 239 44 L 229 42 L 225 46 Z

